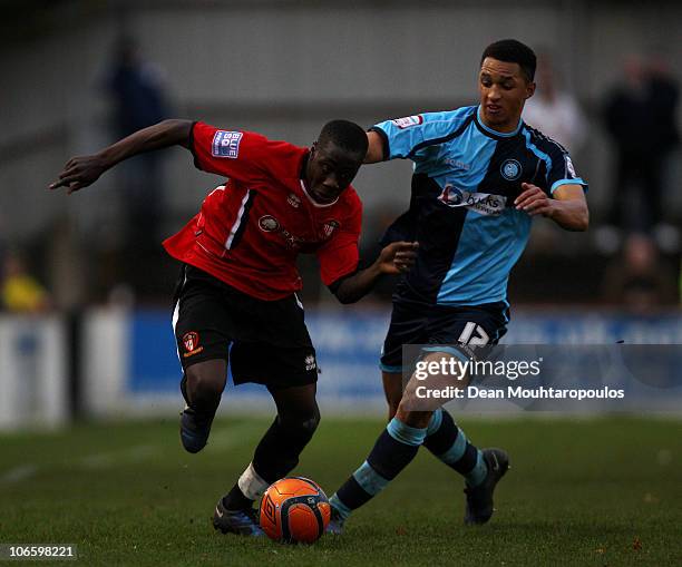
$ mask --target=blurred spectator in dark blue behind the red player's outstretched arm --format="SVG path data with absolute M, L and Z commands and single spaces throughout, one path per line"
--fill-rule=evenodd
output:
M 123 36 L 114 48 L 111 67 L 105 78 L 105 88 L 113 104 L 113 139 L 158 124 L 169 116 L 166 86 L 160 68 L 146 61 L 137 41 Z M 126 258 L 121 266 L 127 283 L 135 289 L 144 286 L 145 266 L 162 256 L 160 231 L 164 218 L 163 156 L 148 153 L 129 159 L 119 168 L 124 224 L 124 253 L 135 251 L 135 258 Z

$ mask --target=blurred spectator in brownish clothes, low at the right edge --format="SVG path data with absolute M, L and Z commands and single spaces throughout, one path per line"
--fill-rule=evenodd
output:
M 640 313 L 675 305 L 675 277 L 655 242 L 645 234 L 632 234 L 625 239 L 622 255 L 606 268 L 603 299 Z

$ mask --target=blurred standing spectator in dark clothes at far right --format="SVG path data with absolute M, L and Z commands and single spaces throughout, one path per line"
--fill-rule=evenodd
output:
M 625 233 L 652 234 L 663 221 L 663 173 L 680 140 L 678 85 L 661 59 L 633 56 L 624 81 L 608 95 L 604 118 L 614 144 L 608 223 Z

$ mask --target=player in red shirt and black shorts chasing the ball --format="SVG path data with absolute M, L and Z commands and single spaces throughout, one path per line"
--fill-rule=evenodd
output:
M 359 270 L 362 206 L 350 186 L 367 154 L 362 128 L 328 123 L 312 147 L 204 123 L 165 120 L 90 156 L 71 158 L 51 189 L 72 193 L 131 156 L 174 145 L 196 167 L 226 177 L 166 251 L 183 263 L 173 326 L 184 375 L 181 440 L 204 448 L 230 363 L 235 384 L 256 382 L 277 416 L 213 524 L 223 532 L 259 536 L 253 502 L 285 477 L 320 421 L 315 351 L 295 292 L 300 253 L 314 253 L 320 274 L 341 303 L 368 293 L 381 274 L 409 270 L 416 243 L 399 242 Z

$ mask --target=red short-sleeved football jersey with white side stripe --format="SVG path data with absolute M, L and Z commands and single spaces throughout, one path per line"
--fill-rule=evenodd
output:
M 315 253 L 325 285 L 358 267 L 362 204 L 352 187 L 320 205 L 301 179 L 306 148 L 196 123 L 197 168 L 228 177 L 164 241 L 173 257 L 261 300 L 301 289 L 299 253 Z

